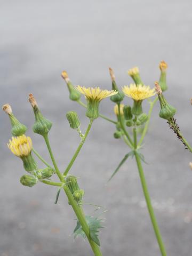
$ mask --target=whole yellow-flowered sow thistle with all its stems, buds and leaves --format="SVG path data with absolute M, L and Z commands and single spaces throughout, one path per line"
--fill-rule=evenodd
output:
M 86 108 L 85 115 L 89 118 L 89 124 L 87 125 L 85 133 L 83 133 L 81 131 L 81 122 L 77 113 L 75 111 L 69 111 L 66 114 L 71 129 L 78 132 L 80 142 L 75 154 L 70 159 L 63 173 L 60 171 L 57 162 L 55 161 L 49 141 L 48 134 L 51 130 L 52 122 L 42 115 L 33 94 L 29 94 L 29 102 L 35 115 L 33 131 L 34 133 L 37 133 L 43 137 L 52 160 L 52 165 L 47 163 L 33 147 L 31 138 L 26 135 L 27 127 L 20 123 L 13 115 L 11 106 L 9 104 L 3 106 L 3 110 L 7 115 L 9 115 L 12 127 L 11 133 L 13 135 L 12 139 L 10 139 L 9 143 L 7 143 L 7 146 L 15 156 L 21 158 L 23 167 L 28 173 L 23 174 L 20 178 L 21 184 L 28 187 L 34 187 L 37 182 L 42 182 L 46 185 L 57 187 L 58 190 L 55 196 L 55 204 L 58 202 L 60 191 L 63 190 L 68 198 L 69 205 L 73 208 L 77 217 L 77 225 L 74 229 L 74 236 L 82 236 L 83 238 L 87 238 L 94 255 L 102 255 L 100 249 L 99 231 L 103 227 L 103 220 L 97 216 L 85 215 L 83 210 L 83 197 L 85 192 L 79 186 L 77 177 L 75 177 L 73 174 L 69 174 L 69 171 L 73 166 L 79 151 L 84 145 L 93 121 L 98 117 L 112 123 L 115 126 L 114 138 L 122 139 L 126 146 L 130 149 L 129 153 L 123 157 L 122 161 L 119 163 L 114 172 L 111 173 L 109 180 L 111 180 L 119 171 L 120 167 L 125 163 L 127 158 L 130 156 L 135 158 L 143 194 L 146 199 L 149 216 L 154 228 L 159 250 L 161 255 L 167 255 L 154 214 L 153 206 L 151 205 L 147 182 L 142 167 L 142 162 L 145 162 L 145 158 L 141 153 L 142 142 L 148 131 L 151 113 L 157 100 L 159 101 L 160 106 L 159 117 L 166 119 L 167 124 L 169 124 L 170 128 L 177 135 L 178 139 L 183 143 L 183 145 L 185 145 L 185 148 L 191 152 L 192 148 L 187 140 L 183 137 L 179 126 L 176 123 L 174 118 L 176 109 L 167 102 L 163 95 L 163 92 L 167 90 L 167 64 L 165 61 L 160 62 L 159 69 L 161 70 L 161 75 L 159 81 L 155 82 L 155 87 L 151 88 L 150 86 L 145 85 L 141 80 L 138 67 L 135 67 L 128 71 L 128 74 L 132 77 L 134 83 L 130 84 L 129 86 L 124 85 L 121 89 L 119 89 L 116 84 L 114 71 L 113 69 L 109 68 L 109 74 L 112 82 L 111 91 L 102 90 L 100 87 L 86 88 L 85 86 L 74 86 L 73 83 L 71 83 L 67 72 L 62 72 L 61 76 L 63 79 L 65 79 L 67 84 L 70 100 L 76 101 L 79 105 Z M 86 103 L 81 101 L 82 94 L 85 97 Z M 111 120 L 110 118 L 99 113 L 99 103 L 101 100 L 108 97 L 110 97 L 110 100 L 115 104 L 114 114 L 116 120 Z M 153 100 L 151 100 L 152 97 L 154 97 Z M 130 105 L 127 104 L 127 102 L 129 102 L 129 98 L 131 98 Z M 148 113 L 143 113 L 142 102 L 144 100 L 149 102 Z M 35 161 L 35 157 L 39 158 L 46 166 L 44 169 L 39 168 Z M 190 167 L 192 168 L 192 163 L 190 163 Z M 52 180 L 53 175 L 55 175 L 59 181 Z M 127 232 L 129 232 L 129 230 Z

